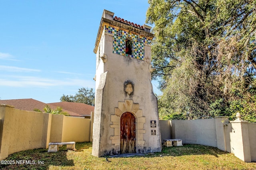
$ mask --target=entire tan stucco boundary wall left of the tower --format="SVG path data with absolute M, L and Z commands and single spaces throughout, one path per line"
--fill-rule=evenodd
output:
M 91 119 L 15 109 L 0 104 L 0 160 L 50 142 L 89 142 Z

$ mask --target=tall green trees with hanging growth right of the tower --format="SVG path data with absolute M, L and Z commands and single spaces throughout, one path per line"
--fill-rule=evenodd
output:
M 148 2 L 147 22 L 156 34 L 152 78 L 163 92 L 159 113 L 234 119 L 240 111 L 254 122 L 256 1 Z

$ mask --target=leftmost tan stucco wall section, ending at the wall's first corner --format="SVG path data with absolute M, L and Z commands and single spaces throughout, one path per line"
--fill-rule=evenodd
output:
M 1 114 L 1 152 L 0 159 L 18 152 L 35 148 L 43 148 L 46 122 L 44 113 L 14 109 L 0 106 Z

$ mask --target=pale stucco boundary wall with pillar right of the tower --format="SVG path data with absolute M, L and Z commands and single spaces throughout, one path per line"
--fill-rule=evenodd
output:
M 244 162 L 256 161 L 256 123 L 229 121 L 227 117 L 160 121 L 161 141 L 182 139 L 183 144 L 217 147 Z

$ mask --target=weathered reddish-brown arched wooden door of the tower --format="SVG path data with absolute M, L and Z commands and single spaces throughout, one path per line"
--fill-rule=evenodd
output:
M 136 119 L 130 112 L 122 114 L 120 119 L 120 151 L 136 153 Z

